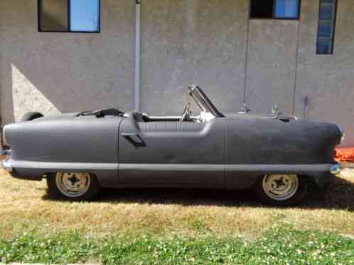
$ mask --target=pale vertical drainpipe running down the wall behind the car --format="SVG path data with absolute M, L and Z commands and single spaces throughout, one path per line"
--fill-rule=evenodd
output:
M 141 0 L 136 0 L 135 13 L 135 109 L 140 111 L 140 73 L 141 73 Z

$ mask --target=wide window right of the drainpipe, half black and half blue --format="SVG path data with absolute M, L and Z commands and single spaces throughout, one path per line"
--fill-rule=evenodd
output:
M 299 19 L 300 0 L 251 0 L 250 18 Z

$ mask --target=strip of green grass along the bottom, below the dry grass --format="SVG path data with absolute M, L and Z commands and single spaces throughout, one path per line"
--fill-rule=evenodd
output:
M 87 237 L 24 233 L 0 239 L 3 262 L 67 264 L 354 264 L 354 238 L 338 233 L 273 227 L 259 239 L 193 237 Z

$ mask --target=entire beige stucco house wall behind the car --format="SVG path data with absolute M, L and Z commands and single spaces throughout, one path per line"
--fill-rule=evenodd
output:
M 102 0 L 100 34 L 38 33 L 36 2 L 0 1 L 3 123 L 33 110 L 134 108 L 136 1 Z M 277 102 L 303 118 L 308 96 L 309 118 L 343 125 L 354 146 L 353 3 L 338 1 L 334 55 L 316 55 L 318 0 L 301 2 L 300 21 L 249 21 L 249 0 L 142 0 L 142 111 L 180 113 L 189 84 L 222 112 L 240 108 L 246 87 L 252 112 Z

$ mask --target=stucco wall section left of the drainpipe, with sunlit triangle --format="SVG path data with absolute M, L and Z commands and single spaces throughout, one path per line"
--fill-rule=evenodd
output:
M 133 108 L 132 0 L 102 0 L 102 33 L 38 33 L 36 0 L 0 1 L 3 123 L 28 111 Z

